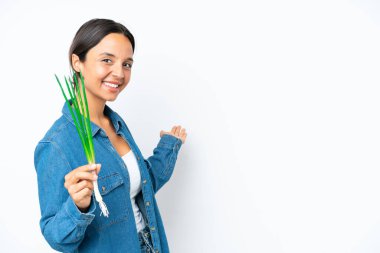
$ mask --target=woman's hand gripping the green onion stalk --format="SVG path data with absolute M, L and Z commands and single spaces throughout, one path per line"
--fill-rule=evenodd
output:
M 94 190 L 93 181 L 98 179 L 100 164 L 80 166 L 65 176 L 65 188 L 81 212 L 87 212 Z

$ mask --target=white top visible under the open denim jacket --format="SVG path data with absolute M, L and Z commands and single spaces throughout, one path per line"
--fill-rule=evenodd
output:
M 122 159 L 127 166 L 130 185 L 131 185 L 131 202 L 133 208 L 133 214 L 135 216 L 137 232 L 140 232 L 145 227 L 145 222 L 143 216 L 140 212 L 139 207 L 136 204 L 135 197 L 141 191 L 141 175 L 139 170 L 139 165 L 137 163 L 136 157 L 130 150 L 127 154 L 122 156 Z

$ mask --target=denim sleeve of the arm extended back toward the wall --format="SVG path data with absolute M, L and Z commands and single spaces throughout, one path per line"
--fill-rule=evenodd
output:
M 153 150 L 153 155 L 144 160 L 148 167 L 155 193 L 169 181 L 173 174 L 178 151 L 181 146 L 181 139 L 164 134 L 157 147 Z

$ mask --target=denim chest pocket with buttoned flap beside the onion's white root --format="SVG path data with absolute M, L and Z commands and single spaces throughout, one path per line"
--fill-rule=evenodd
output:
M 125 221 L 129 217 L 128 195 L 122 176 L 114 172 L 98 178 L 99 192 L 107 206 L 109 215 L 101 214 L 99 203 L 96 203 L 95 218 L 90 226 L 96 230 L 102 230 L 113 224 Z

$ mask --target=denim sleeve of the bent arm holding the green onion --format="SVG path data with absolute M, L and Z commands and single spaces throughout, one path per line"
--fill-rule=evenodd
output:
M 42 234 L 53 249 L 76 252 L 87 226 L 95 217 L 94 197 L 88 213 L 81 213 L 64 188 L 64 177 L 72 168 L 56 143 L 40 142 L 34 153 L 34 164 Z

